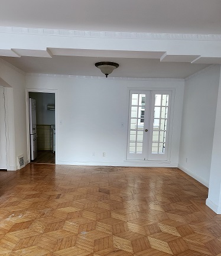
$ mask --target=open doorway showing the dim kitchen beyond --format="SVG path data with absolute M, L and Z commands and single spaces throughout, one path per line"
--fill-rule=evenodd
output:
M 55 93 L 29 92 L 31 163 L 56 163 Z

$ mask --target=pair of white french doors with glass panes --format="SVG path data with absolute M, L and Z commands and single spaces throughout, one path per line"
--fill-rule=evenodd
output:
M 168 160 L 171 91 L 131 91 L 128 160 Z

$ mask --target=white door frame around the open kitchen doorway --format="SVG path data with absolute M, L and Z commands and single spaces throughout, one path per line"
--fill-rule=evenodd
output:
M 25 89 L 25 101 L 26 101 L 26 116 L 27 116 L 27 149 L 28 149 L 28 163 L 30 163 L 30 134 L 29 134 L 29 125 L 30 125 L 30 118 L 29 118 L 29 93 L 30 92 L 44 92 L 44 93 L 54 93 L 55 96 L 55 125 L 56 125 L 56 141 L 58 141 L 58 90 L 51 90 L 51 89 L 35 89 L 35 88 L 26 88 Z M 56 143 L 56 163 L 58 160 L 58 147 Z

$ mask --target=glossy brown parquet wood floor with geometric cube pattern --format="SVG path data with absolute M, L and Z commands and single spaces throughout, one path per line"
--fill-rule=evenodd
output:
M 221 216 L 178 168 L 0 172 L 0 256 L 221 256 Z

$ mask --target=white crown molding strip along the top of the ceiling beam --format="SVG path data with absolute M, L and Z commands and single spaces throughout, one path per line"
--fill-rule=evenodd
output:
M 86 31 L 86 30 L 58 30 L 52 28 L 24 28 L 0 26 L 0 33 L 49 35 L 60 37 L 84 38 L 116 38 L 143 40 L 181 40 L 181 41 L 221 41 L 220 34 L 175 34 L 175 33 L 137 33 L 118 31 Z

